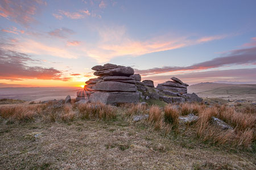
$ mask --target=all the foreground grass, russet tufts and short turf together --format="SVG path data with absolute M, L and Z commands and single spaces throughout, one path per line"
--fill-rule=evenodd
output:
M 255 169 L 256 113 L 239 107 L 2 105 L 0 164 L 3 169 Z M 178 117 L 190 113 L 199 120 L 184 129 Z M 147 120 L 130 121 L 143 114 Z M 217 128 L 212 116 L 234 129 Z

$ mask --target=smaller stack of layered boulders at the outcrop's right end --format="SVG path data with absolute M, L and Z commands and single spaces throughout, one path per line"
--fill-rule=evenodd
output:
M 187 94 L 187 86 L 188 84 L 183 83 L 180 79 L 172 77 L 172 81 L 167 81 L 164 83 L 158 84 L 156 88 L 158 90 L 163 91 L 164 94 L 176 94 L 176 95 L 183 95 Z M 172 92 L 172 93 L 170 93 Z

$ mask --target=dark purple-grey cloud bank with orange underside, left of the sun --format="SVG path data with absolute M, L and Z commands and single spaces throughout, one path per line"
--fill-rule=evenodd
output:
M 40 66 L 28 66 L 27 63 L 38 62 L 24 53 L 0 48 L 0 79 L 44 79 L 44 80 L 70 80 L 63 77 L 61 71 Z

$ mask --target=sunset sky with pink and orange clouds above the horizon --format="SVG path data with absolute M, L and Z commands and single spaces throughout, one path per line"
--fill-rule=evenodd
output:
M 0 87 L 74 87 L 91 68 L 131 66 L 155 85 L 176 76 L 256 84 L 256 1 L 1 0 Z

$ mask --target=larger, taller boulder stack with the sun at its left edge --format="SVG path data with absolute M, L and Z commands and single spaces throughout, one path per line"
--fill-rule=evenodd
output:
M 131 67 L 107 63 L 92 67 L 98 78 L 89 79 L 84 90 L 77 92 L 76 100 L 82 102 L 100 101 L 105 104 L 137 103 L 139 92 L 135 83 L 140 75 L 134 75 Z

